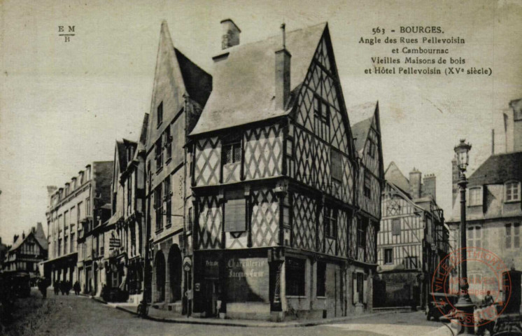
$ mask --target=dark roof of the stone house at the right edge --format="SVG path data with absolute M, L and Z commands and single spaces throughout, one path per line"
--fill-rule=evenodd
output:
M 469 186 L 522 181 L 522 152 L 491 155 L 468 179 Z

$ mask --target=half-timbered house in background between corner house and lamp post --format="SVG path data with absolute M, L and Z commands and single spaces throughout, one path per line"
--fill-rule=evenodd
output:
M 379 307 L 421 306 L 428 300 L 432 276 L 449 253 L 449 230 L 436 202 L 435 175 L 413 169 L 407 179 L 391 162 L 386 169 L 377 235 Z

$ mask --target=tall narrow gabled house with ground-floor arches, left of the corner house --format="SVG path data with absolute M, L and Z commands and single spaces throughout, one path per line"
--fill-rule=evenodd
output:
M 167 22 L 162 23 L 152 102 L 146 135 L 146 212 L 152 242 L 152 276 L 145 274 L 154 307 L 181 312 L 190 272 L 182 272 L 186 254 L 185 218 L 191 211 L 190 158 L 185 148 L 212 90 L 212 76 L 174 48 Z M 183 274 L 182 274 L 183 273 Z M 148 293 L 147 293 L 148 294 Z M 185 306 L 186 307 L 186 306 Z

